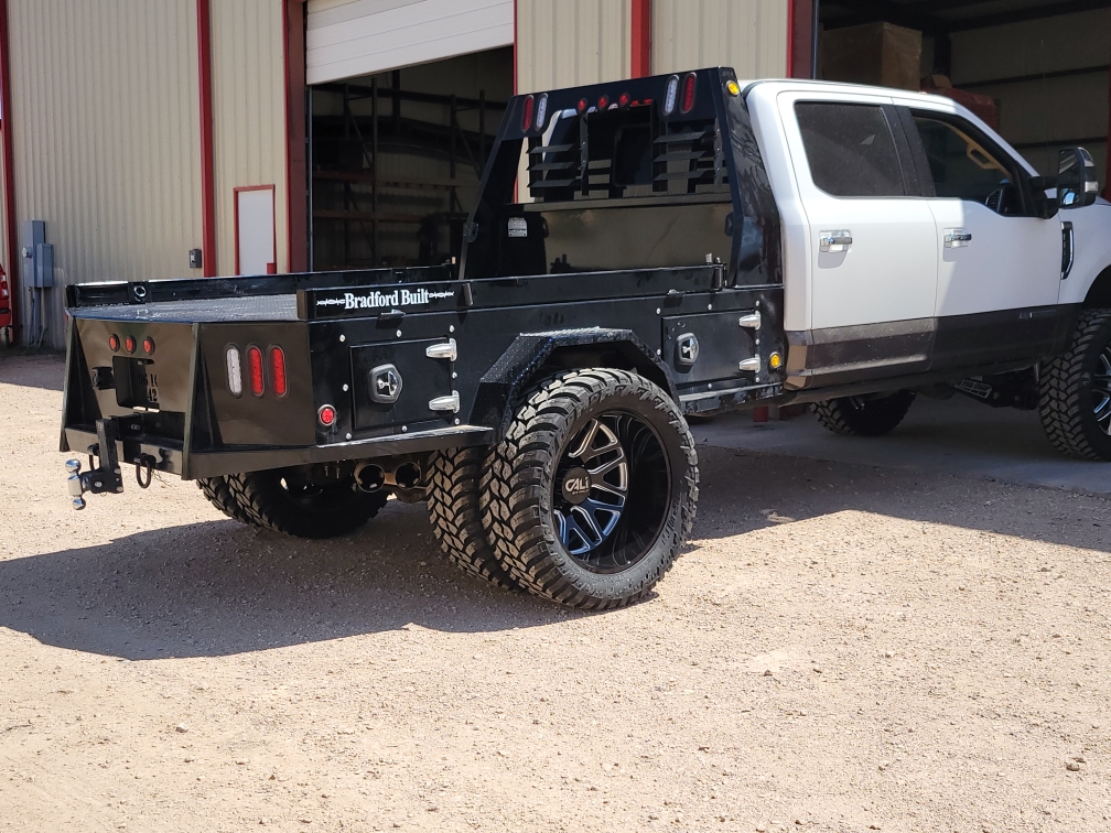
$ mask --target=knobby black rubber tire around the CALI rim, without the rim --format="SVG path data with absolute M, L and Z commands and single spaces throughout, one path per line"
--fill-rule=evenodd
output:
M 654 456 L 665 460 L 660 481 L 665 485 L 652 499 L 660 504 L 660 520 L 651 543 L 638 545 L 641 555 L 630 565 L 598 572 L 559 539 L 556 470 L 584 425 L 613 414 L 639 421 L 639 430 L 655 438 Z M 630 483 L 634 480 L 631 474 Z M 674 563 L 694 522 L 698 483 L 694 440 L 663 390 L 623 370 L 571 371 L 534 389 L 506 439 L 490 450 L 482 472 L 482 522 L 502 566 L 524 590 L 571 608 L 622 608 L 648 595 Z

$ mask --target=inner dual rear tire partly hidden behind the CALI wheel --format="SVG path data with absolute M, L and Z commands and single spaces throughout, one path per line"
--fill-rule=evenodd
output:
M 499 588 L 516 589 L 487 541 L 479 482 L 486 448 L 449 449 L 429 464 L 428 516 L 448 559 L 463 572 Z

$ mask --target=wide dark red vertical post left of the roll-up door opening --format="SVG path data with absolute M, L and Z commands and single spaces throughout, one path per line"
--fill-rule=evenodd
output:
M 308 160 L 304 143 L 304 0 L 281 0 L 286 37 L 286 240 L 289 271 L 309 269 Z M 238 269 L 236 271 L 239 271 Z

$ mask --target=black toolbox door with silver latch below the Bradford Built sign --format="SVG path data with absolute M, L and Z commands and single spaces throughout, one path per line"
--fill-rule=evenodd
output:
M 352 347 L 354 428 L 453 419 L 453 412 L 429 408 L 431 400 L 451 395 L 452 362 L 431 359 L 427 352 L 433 344 L 443 343 L 444 339 L 421 339 Z

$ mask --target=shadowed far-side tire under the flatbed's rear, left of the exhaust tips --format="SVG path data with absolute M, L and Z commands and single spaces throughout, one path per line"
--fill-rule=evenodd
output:
M 228 488 L 253 523 L 296 538 L 336 538 L 362 526 L 386 505 L 386 492 L 360 492 L 353 480 L 301 493 L 283 485 L 286 470 L 229 474 Z

